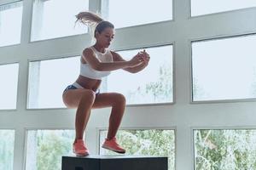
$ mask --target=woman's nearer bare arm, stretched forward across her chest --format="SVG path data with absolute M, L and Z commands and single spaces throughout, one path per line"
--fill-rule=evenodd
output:
M 127 67 L 140 65 L 142 61 L 137 57 L 130 61 L 114 61 L 109 63 L 102 63 L 96 58 L 95 54 L 90 48 L 85 48 L 83 51 L 83 59 L 96 71 L 115 71 L 118 69 L 125 69 Z

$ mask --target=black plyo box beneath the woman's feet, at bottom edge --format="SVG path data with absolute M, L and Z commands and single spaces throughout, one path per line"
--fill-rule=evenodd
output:
M 61 170 L 167 170 L 164 156 L 62 156 Z

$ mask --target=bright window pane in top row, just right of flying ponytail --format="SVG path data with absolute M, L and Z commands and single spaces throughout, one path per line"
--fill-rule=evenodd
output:
M 108 20 L 116 28 L 172 20 L 172 0 L 107 0 L 102 1 Z

